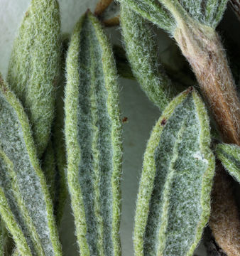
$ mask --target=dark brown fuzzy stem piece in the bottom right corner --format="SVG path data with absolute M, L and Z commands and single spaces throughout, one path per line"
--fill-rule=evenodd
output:
M 217 243 L 228 256 L 239 256 L 240 221 L 231 179 L 219 162 L 216 167 L 209 227 Z

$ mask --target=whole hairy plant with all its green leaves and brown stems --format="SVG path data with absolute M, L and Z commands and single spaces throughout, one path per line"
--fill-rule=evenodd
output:
M 229 2 L 238 15 L 239 2 Z M 134 254 L 194 255 L 209 225 L 224 253 L 240 255 L 231 188 L 231 177 L 240 182 L 239 63 L 230 56 L 232 75 L 216 32 L 226 6 L 99 0 L 69 37 L 57 0 L 31 0 L 0 77 L 0 255 L 62 255 L 68 193 L 79 255 L 122 254 L 127 117 L 118 76 L 136 80 L 160 111 L 143 156 Z M 111 46 L 105 26 L 120 26 L 122 47 Z M 156 27 L 175 39 L 195 78 L 162 63 Z

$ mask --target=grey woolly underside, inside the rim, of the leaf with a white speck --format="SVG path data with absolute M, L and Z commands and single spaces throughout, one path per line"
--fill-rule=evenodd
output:
M 201 156 L 201 157 L 200 157 Z M 207 159 L 200 154 L 200 124 L 192 99 L 180 104 L 168 119 L 155 150 L 156 177 L 148 213 L 144 255 L 186 255 L 202 213 L 202 176 Z M 170 188 L 167 194 L 167 184 Z M 168 197 L 168 198 L 164 198 Z M 167 216 L 163 203 L 168 201 Z M 168 218 L 167 225 L 162 223 Z M 165 228 L 164 240 L 158 233 Z M 165 245 L 164 245 L 165 242 Z

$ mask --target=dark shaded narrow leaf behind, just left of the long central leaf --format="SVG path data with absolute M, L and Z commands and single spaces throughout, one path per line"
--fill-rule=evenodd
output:
M 43 154 L 43 171 L 46 176 L 51 198 L 53 200 L 55 219 L 58 224 L 62 220 L 63 210 L 67 198 L 67 183 L 65 176 L 66 152 L 64 139 L 64 87 L 65 87 L 65 55 L 69 38 L 62 36 L 62 72 L 57 88 L 55 102 L 55 119 L 53 121 L 52 136 L 48 142 L 48 147 Z

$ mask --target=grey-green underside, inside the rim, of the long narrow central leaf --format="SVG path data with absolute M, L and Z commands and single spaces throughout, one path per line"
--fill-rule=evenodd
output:
M 104 252 L 113 255 L 111 239 L 111 173 L 112 149 L 111 149 L 111 119 L 107 112 L 107 90 L 105 89 L 104 74 L 102 70 L 102 49 L 97 41 L 94 28 L 85 21 L 80 33 L 80 106 L 78 119 L 78 134 L 82 161 L 80 162 L 80 186 L 84 199 L 85 214 L 87 220 L 87 240 L 91 255 L 97 255 L 97 218 L 94 209 L 94 186 L 99 186 L 100 215 L 104 225 Z M 90 52 L 91 44 L 93 52 Z M 94 63 L 91 63 L 95 57 Z M 94 74 L 89 71 L 94 67 Z M 91 85 L 94 85 L 91 89 Z M 94 97 L 90 94 L 93 90 Z M 95 105 L 95 106 L 94 106 Z M 97 122 L 93 114 L 97 114 Z M 96 122 L 96 123 L 94 123 Z M 97 128 L 97 144 L 93 142 L 94 131 Z M 98 159 L 96 159 L 97 157 Z M 99 161 L 96 163 L 96 161 Z M 99 166 L 99 184 L 94 177 L 94 162 Z M 87 186 L 86 186 L 87 185 Z

